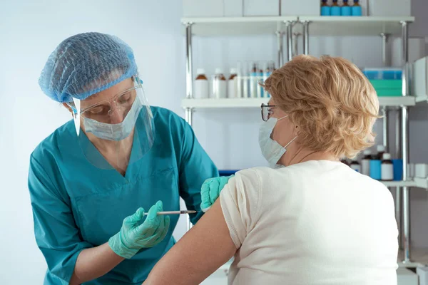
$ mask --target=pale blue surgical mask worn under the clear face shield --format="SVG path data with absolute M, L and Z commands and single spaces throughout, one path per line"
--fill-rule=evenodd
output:
M 83 124 L 85 125 L 86 132 L 93 133 L 97 138 L 115 141 L 123 140 L 131 135 L 141 108 L 143 108 L 143 105 L 141 105 L 140 100 L 136 98 L 131 106 L 131 110 L 129 110 L 121 123 L 107 124 L 100 123 L 97 120 L 83 118 Z

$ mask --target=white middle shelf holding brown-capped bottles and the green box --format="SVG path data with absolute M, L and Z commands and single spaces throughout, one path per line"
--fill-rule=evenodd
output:
M 262 103 L 267 103 L 269 98 L 222 98 L 222 99 L 183 99 L 183 108 L 259 108 Z M 415 105 L 412 96 L 379 97 L 379 104 L 382 106 L 413 106 Z

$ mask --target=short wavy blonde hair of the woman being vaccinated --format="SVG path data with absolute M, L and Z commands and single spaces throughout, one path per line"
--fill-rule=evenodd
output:
M 345 58 L 296 56 L 263 87 L 299 126 L 302 147 L 353 158 L 373 145 L 379 100 L 370 81 Z

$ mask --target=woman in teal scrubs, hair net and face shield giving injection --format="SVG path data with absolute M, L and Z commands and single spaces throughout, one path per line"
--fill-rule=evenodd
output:
M 175 243 L 178 216 L 156 213 L 178 210 L 179 197 L 199 210 L 215 165 L 184 120 L 148 105 L 133 52 L 115 36 L 67 38 L 39 84 L 73 115 L 31 154 L 44 284 L 141 284 Z

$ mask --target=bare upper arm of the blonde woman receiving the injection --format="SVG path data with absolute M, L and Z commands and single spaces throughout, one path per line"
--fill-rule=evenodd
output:
M 156 264 L 144 284 L 200 284 L 236 250 L 217 201 Z

